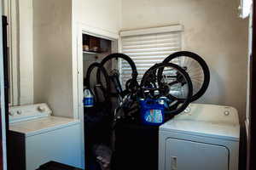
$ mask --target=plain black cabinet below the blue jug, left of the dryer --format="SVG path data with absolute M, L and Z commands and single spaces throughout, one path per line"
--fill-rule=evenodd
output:
M 119 121 L 115 127 L 115 170 L 157 170 L 159 127 Z

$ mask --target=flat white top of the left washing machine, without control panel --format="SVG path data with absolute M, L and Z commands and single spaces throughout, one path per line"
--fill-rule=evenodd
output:
M 79 123 L 77 119 L 47 116 L 26 122 L 15 122 L 9 125 L 9 130 L 29 137 L 38 133 L 46 133 L 55 129 L 69 127 L 77 123 Z

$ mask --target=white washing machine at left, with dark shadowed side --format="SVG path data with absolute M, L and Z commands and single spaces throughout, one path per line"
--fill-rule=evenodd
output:
M 11 170 L 35 170 L 48 161 L 82 165 L 79 120 L 50 116 L 46 104 L 12 107 L 9 111 Z

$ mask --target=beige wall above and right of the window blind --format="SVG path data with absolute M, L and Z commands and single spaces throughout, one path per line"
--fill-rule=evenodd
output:
M 200 54 L 211 70 L 207 93 L 197 102 L 231 105 L 246 112 L 247 20 L 238 1 L 123 0 L 122 30 L 182 24 L 183 49 Z

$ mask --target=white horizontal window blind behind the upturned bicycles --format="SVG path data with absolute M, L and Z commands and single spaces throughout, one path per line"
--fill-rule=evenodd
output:
M 153 33 L 150 33 L 150 29 L 137 30 L 134 31 L 135 35 L 132 35 L 132 31 L 121 32 L 122 53 L 127 54 L 135 62 L 139 82 L 149 67 L 181 50 L 182 27 L 162 28 L 154 28 Z M 147 32 L 147 34 L 143 34 L 143 32 Z M 124 59 L 120 62 L 120 70 L 121 82 L 125 85 L 125 82 L 131 78 L 131 67 Z

